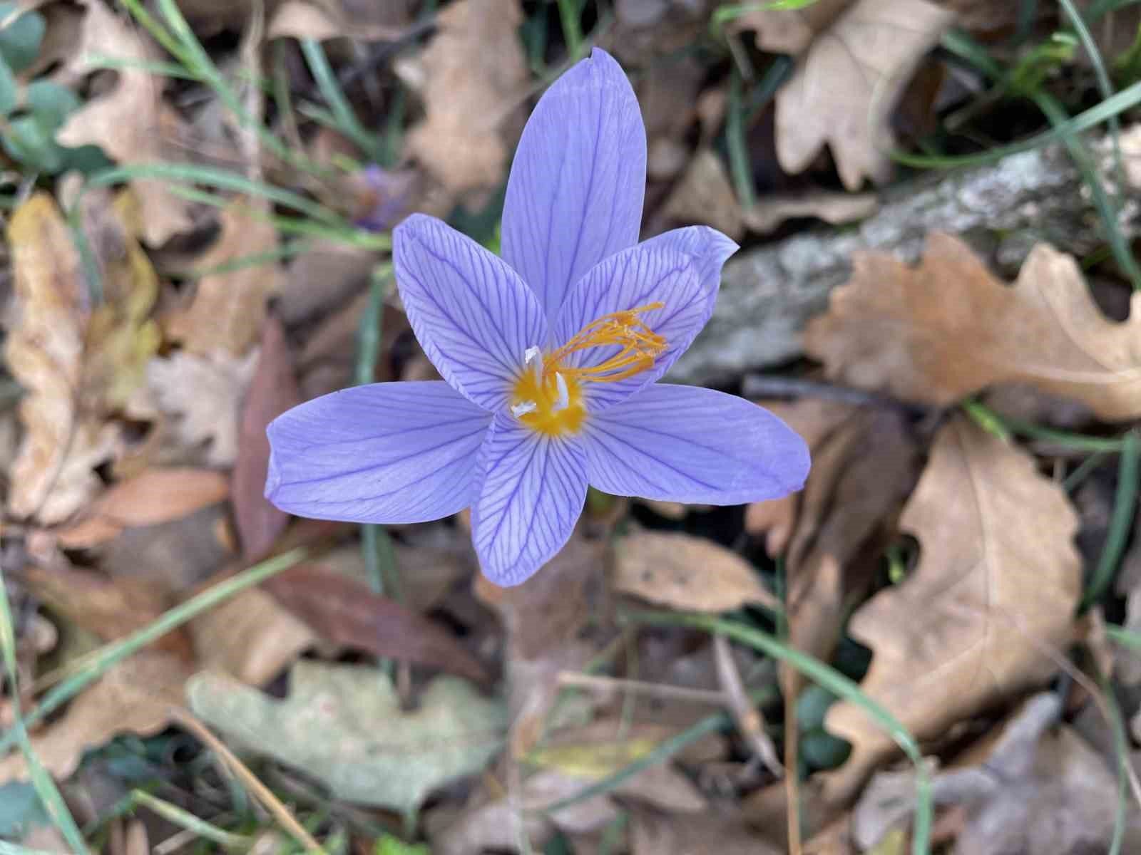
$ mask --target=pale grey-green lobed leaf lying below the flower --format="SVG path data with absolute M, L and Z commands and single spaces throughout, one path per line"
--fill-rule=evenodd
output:
M 207 671 L 186 697 L 227 739 L 304 769 L 333 798 L 400 812 L 482 769 L 507 726 L 500 703 L 456 677 L 435 678 L 404 711 L 375 668 L 307 660 L 293 666 L 284 700 Z

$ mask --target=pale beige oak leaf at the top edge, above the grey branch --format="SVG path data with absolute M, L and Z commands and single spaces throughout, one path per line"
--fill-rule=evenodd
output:
M 832 147 L 844 187 L 891 171 L 891 111 L 954 14 L 925 0 L 858 0 L 812 40 L 777 92 L 777 160 L 788 173 Z

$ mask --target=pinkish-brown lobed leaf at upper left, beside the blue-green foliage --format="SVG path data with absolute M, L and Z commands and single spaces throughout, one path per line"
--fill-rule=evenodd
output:
M 145 63 L 161 59 L 140 28 L 99 0 L 82 0 L 86 8 L 81 41 L 73 46 L 68 74 L 89 74 L 100 66 L 100 56 L 126 60 L 116 68 L 116 83 L 105 95 L 91 98 L 72 113 L 56 133 L 63 146 L 94 145 L 103 148 L 120 165 L 169 162 L 177 157 L 176 146 L 167 140 L 184 139 L 187 133 L 178 115 L 162 101 L 162 78 L 146 71 Z M 157 246 L 193 225 L 187 202 L 171 192 L 168 182 L 138 179 L 131 182 L 143 207 L 143 238 Z

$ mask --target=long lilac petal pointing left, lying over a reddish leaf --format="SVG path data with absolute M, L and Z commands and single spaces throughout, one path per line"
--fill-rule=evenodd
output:
M 266 498 L 298 516 L 426 522 L 476 498 L 492 416 L 440 381 L 373 383 L 270 422 Z

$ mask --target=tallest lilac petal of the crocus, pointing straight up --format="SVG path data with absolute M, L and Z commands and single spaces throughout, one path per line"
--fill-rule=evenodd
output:
M 540 98 L 503 203 L 503 259 L 555 318 L 567 290 L 633 246 L 646 190 L 646 128 L 625 72 L 594 48 Z

